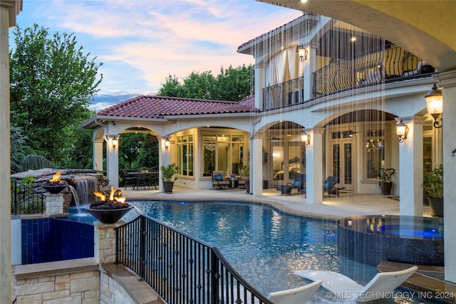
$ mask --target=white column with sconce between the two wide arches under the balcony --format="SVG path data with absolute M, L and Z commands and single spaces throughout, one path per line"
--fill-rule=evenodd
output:
M 323 127 L 306 129 L 311 143 L 306 147 L 306 201 L 307 204 L 323 202 Z

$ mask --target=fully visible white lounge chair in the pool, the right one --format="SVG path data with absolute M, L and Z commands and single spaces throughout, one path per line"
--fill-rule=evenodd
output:
M 398 288 L 416 270 L 417 266 L 403 271 L 388 271 L 377 273 L 366 285 L 360 285 L 347 276 L 333 271 L 299 271 L 294 274 L 311 281 L 321 280 L 321 286 L 331 291 L 336 298 L 350 299 L 357 302 L 378 300 Z

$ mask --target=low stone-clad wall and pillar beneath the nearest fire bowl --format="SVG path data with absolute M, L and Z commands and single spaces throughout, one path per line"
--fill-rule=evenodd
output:
M 16 303 L 164 303 L 135 273 L 113 264 L 121 224 L 95 222 L 94 258 L 16 266 Z

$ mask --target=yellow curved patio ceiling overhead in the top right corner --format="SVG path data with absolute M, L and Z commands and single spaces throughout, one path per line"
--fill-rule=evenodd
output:
M 456 69 L 456 32 L 449 26 L 456 16 L 455 1 L 257 1 L 345 21 L 407 49 L 442 72 Z

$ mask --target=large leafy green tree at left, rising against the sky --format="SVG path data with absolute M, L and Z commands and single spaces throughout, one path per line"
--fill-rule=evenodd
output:
M 14 30 L 11 122 L 29 137 L 34 153 L 63 165 L 80 138 L 78 126 L 93 115 L 88 105 L 103 75 L 98 78 L 101 63 L 83 53 L 73 34 L 48 36 L 36 24 Z

